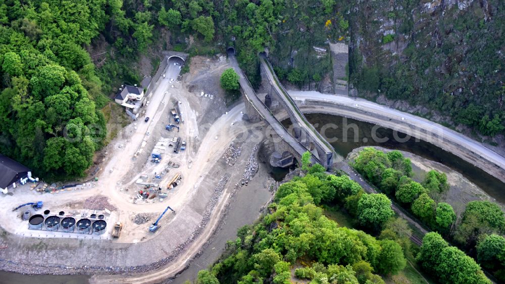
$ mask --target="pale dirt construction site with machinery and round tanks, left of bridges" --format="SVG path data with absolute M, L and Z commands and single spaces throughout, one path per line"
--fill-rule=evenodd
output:
M 193 57 L 183 76 L 184 57 L 165 60 L 144 110 L 96 155 L 88 176 L 2 194 L 3 270 L 166 279 L 211 238 L 237 190 L 268 192 L 275 181 L 256 175 L 263 138 L 243 138 L 264 124 L 243 121 L 242 102 L 226 106 L 226 57 Z

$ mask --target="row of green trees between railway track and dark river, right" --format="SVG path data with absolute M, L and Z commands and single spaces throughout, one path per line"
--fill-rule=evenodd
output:
M 384 153 L 367 147 L 359 152 L 352 166 L 427 227 L 454 242 L 477 260 L 487 259 L 478 257 L 479 245 L 482 244 L 480 245 L 482 256 L 486 254 L 482 251 L 487 251 L 490 247 L 489 242 L 495 241 L 496 238 L 491 238 L 488 243 L 483 240 L 489 235 L 498 236 L 496 234 L 505 232 L 505 214 L 497 204 L 489 201 L 469 202 L 459 222 L 456 222 L 457 216 L 452 206 L 434 200 L 443 199 L 441 194 L 448 190 L 445 174 L 430 170 L 422 183 L 416 182 L 410 178 L 412 172 L 410 160 L 403 158 L 399 151 Z M 492 255 L 490 258 L 501 259 L 500 253 L 500 250 L 495 250 L 490 253 Z M 427 265 L 432 266 L 435 263 Z M 499 279 L 503 279 L 503 265 L 497 261 L 496 265 L 491 266 Z

